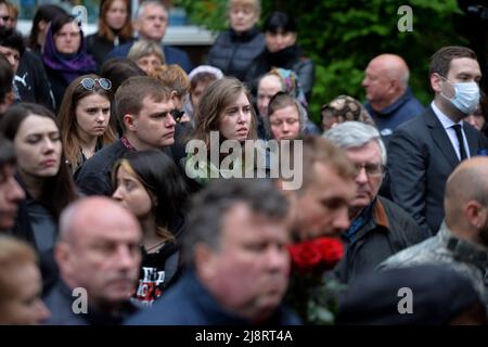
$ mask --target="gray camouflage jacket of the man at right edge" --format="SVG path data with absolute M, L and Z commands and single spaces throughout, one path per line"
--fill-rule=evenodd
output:
M 408 247 L 380 266 L 380 270 L 420 265 L 448 265 L 467 277 L 485 303 L 488 312 L 488 248 L 455 237 L 442 222 L 437 235 Z

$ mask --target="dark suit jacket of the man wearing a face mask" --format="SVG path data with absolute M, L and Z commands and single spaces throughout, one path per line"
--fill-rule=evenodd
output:
M 471 156 L 488 146 L 487 139 L 463 124 Z M 444 219 L 444 189 L 459 164 L 455 151 L 432 107 L 402 124 L 388 144 L 388 175 L 393 200 L 424 229 L 437 233 Z

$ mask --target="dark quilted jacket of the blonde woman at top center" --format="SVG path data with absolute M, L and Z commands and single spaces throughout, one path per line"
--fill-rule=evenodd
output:
M 247 69 L 264 49 L 265 36 L 257 27 L 243 35 L 227 29 L 220 33 L 208 52 L 208 65 L 220 68 L 223 75 L 244 81 Z

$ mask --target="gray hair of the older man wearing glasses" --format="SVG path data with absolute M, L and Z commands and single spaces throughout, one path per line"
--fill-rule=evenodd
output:
M 386 147 L 380 131 L 360 121 L 345 121 L 325 131 L 322 137 L 342 149 L 362 147 L 375 140 L 382 153 L 382 164 L 386 165 Z

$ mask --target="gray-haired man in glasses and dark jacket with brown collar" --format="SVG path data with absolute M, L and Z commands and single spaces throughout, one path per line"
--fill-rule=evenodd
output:
M 323 137 L 344 149 L 357 168 L 357 193 L 349 208 L 351 224 L 342 235 L 346 255 L 334 269 L 334 275 L 348 283 L 427 235 L 401 207 L 377 195 L 385 174 L 386 149 L 376 128 L 346 121 Z

